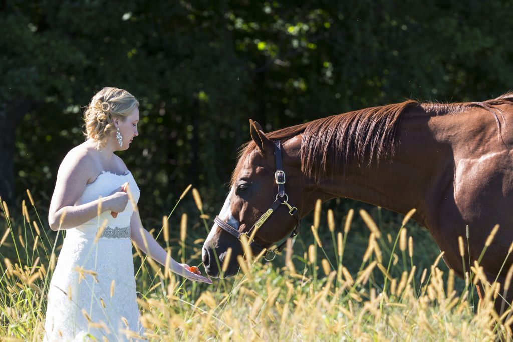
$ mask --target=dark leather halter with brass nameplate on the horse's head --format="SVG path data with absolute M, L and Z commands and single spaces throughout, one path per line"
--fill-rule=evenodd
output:
M 274 202 L 271 204 L 270 208 L 267 209 L 267 211 L 257 220 L 257 222 L 253 225 L 253 227 L 251 227 L 249 231 L 247 231 L 246 233 L 241 233 L 229 224 L 227 224 L 226 222 L 224 222 L 219 216 L 215 216 L 214 218 L 214 223 L 227 233 L 231 234 L 239 240 L 241 239 L 242 235 L 246 235 L 250 240 L 249 246 L 251 246 L 254 249 L 257 249 L 259 252 L 265 250 L 263 256 L 266 261 L 271 261 L 272 259 L 274 259 L 276 253 L 280 253 L 283 250 L 283 247 L 285 247 L 287 239 L 292 238 L 295 235 L 298 235 L 299 228 L 301 226 L 301 219 L 298 217 L 298 209 L 293 206 L 290 206 L 287 203 L 288 196 L 285 193 L 285 172 L 283 172 L 282 170 L 282 151 L 280 140 L 274 140 L 274 159 L 276 162 L 276 172 L 274 173 L 274 180 L 278 185 L 278 194 L 276 195 L 276 198 L 274 199 Z M 278 246 L 278 248 L 269 250 L 257 244 L 254 240 L 254 237 L 257 234 L 260 227 L 262 227 L 264 222 L 267 220 L 267 218 L 269 218 L 269 216 L 274 211 L 276 211 L 281 205 L 287 206 L 287 208 L 289 209 L 290 216 L 296 219 L 297 225 L 290 233 L 290 236 L 280 246 Z M 272 258 L 268 259 L 267 255 L 269 255 L 269 253 L 272 253 Z

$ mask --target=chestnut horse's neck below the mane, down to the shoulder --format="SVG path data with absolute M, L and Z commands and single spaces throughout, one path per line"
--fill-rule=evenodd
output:
M 447 187 L 453 157 L 450 145 L 435 133 L 443 125 L 435 115 L 404 114 L 396 135 L 396 149 L 386 159 L 369 164 L 349 162 L 343 172 L 320 179 L 305 177 L 303 214 L 313 209 L 315 201 L 347 197 L 380 206 L 401 214 L 417 209 L 423 222 L 424 203 L 437 187 Z

